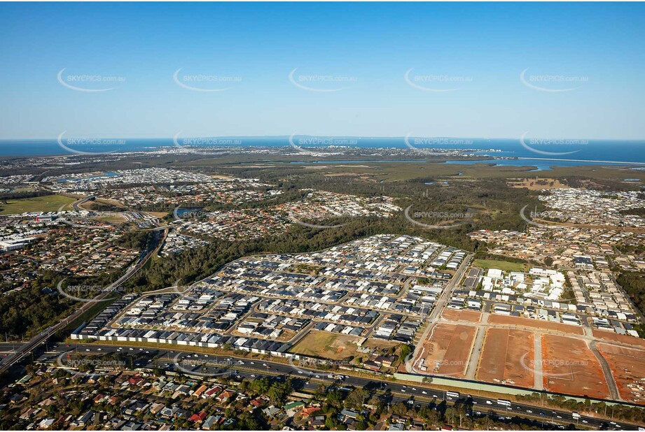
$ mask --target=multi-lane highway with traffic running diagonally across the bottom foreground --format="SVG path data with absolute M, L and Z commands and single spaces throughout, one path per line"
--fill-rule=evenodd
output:
M 431 389 L 428 384 L 401 384 L 400 382 L 391 382 L 379 380 L 377 377 L 356 377 L 352 375 L 342 375 L 338 379 L 338 373 L 331 375 L 329 372 L 322 372 L 311 368 L 300 367 L 297 363 L 285 364 L 275 361 L 247 359 L 234 356 L 215 356 L 211 354 L 181 352 L 181 347 L 173 347 L 174 350 L 163 348 L 151 349 L 150 347 L 134 347 L 120 345 L 99 345 L 92 344 L 57 344 L 52 350 L 43 354 L 39 359 L 41 362 L 53 363 L 61 354 L 69 351 L 76 351 L 81 354 L 96 355 L 121 352 L 125 355 L 134 355 L 137 361 L 134 363 L 138 368 L 157 367 L 176 373 L 188 374 L 190 371 L 196 376 L 203 378 L 217 377 L 221 375 L 247 378 L 250 380 L 258 377 L 276 375 L 291 376 L 296 380 L 300 389 L 315 391 L 321 385 L 326 387 L 334 386 L 336 388 L 365 388 L 369 391 L 382 396 L 386 403 L 396 404 L 399 402 L 412 403 L 419 405 L 422 403 L 445 403 L 453 404 L 457 401 L 465 402 L 469 407 L 469 414 L 473 416 L 491 415 L 494 419 L 504 419 L 511 422 L 513 417 L 525 417 L 541 422 L 544 427 L 553 426 L 564 429 L 569 424 L 578 424 L 586 428 L 595 429 L 617 429 L 617 430 L 637 430 L 638 426 L 627 424 L 625 422 L 612 422 L 611 420 L 597 419 L 586 415 L 574 418 L 571 412 L 563 410 L 553 410 L 539 405 L 529 405 L 527 403 L 511 403 L 510 406 L 504 403 L 498 403 L 495 398 L 485 398 L 481 396 L 471 396 L 469 394 L 459 394 L 458 397 L 450 396 L 446 391 Z M 448 392 L 450 393 L 450 392 Z

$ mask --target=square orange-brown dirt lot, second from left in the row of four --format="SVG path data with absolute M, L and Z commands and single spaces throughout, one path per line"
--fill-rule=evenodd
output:
M 487 329 L 477 380 L 533 387 L 533 337 L 531 331 Z

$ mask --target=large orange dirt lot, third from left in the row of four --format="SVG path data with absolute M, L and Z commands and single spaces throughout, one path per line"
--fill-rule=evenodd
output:
M 556 393 L 609 398 L 602 368 L 584 340 L 542 335 L 544 388 Z

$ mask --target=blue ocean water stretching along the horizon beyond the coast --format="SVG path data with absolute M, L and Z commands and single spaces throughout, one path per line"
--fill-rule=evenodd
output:
M 361 138 L 361 137 L 310 137 L 296 136 L 296 145 L 307 147 L 371 147 L 371 148 L 406 148 L 408 143 L 421 150 L 425 148 L 471 149 L 476 154 L 488 154 L 492 157 L 519 157 L 531 160 L 497 159 L 500 165 L 530 165 L 538 169 L 548 169 L 549 166 L 573 166 L 582 164 L 598 164 L 598 161 L 627 162 L 645 165 L 645 141 L 606 141 L 606 140 L 569 140 L 569 141 L 537 141 L 525 138 L 519 139 L 484 139 L 484 138 Z M 179 139 L 183 144 L 183 139 Z M 194 141 L 202 147 L 286 147 L 290 145 L 288 136 L 278 137 L 217 137 L 202 138 Z M 94 140 L 89 143 L 69 143 L 64 145 L 81 152 L 144 152 L 158 148 L 175 147 L 172 138 L 128 139 L 108 138 Z M 487 150 L 499 150 L 489 152 Z M 41 140 L 0 140 L 0 157 L 25 156 L 54 156 L 74 154 L 65 149 L 56 139 Z M 338 159 L 342 159 L 339 157 Z M 419 159 L 423 159 L 422 155 Z M 541 160 L 543 159 L 543 160 Z M 356 163 L 357 161 L 345 161 Z M 450 162 L 452 163 L 452 162 Z M 464 163 L 464 162 L 455 162 Z M 466 163 L 476 163 L 468 161 Z

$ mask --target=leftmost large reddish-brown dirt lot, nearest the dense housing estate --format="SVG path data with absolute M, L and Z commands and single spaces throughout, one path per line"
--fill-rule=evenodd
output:
M 426 373 L 464 377 L 475 333 L 471 326 L 437 324 L 424 344 Z

